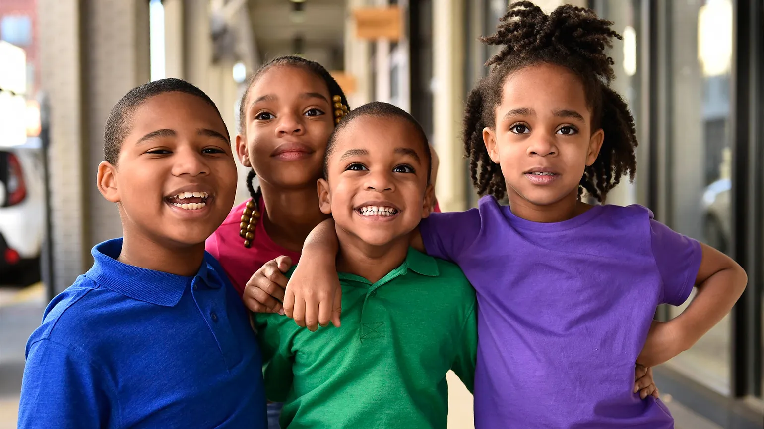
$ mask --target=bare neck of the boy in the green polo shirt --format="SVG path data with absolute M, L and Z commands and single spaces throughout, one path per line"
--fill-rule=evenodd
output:
M 384 246 L 365 244 L 358 237 L 352 237 L 337 227 L 339 253 L 337 271 L 361 276 L 369 282 L 380 281 L 387 273 L 396 269 L 406 260 L 409 251 L 409 236 L 399 237 Z

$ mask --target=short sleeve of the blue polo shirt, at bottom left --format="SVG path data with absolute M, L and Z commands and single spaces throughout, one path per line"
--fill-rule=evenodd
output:
M 21 382 L 18 427 L 116 427 L 105 382 L 86 356 L 51 340 L 32 344 Z

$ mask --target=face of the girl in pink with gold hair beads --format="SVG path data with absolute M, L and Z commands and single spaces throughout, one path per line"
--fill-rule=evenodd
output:
M 304 67 L 268 69 L 248 92 L 236 136 L 241 163 L 279 189 L 314 186 L 334 130 L 331 100 L 326 82 Z

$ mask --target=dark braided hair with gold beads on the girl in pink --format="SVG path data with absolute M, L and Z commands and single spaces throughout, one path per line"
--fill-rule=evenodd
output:
M 252 88 L 252 85 L 254 85 L 254 82 L 257 82 L 257 79 L 260 79 L 260 77 L 263 76 L 264 73 L 266 73 L 269 69 L 277 66 L 302 67 L 303 69 L 306 69 L 319 78 L 323 79 L 324 82 L 326 82 L 326 87 L 329 89 L 329 95 L 332 97 L 339 96 L 340 98 L 339 102 L 332 100 L 333 107 L 335 108 L 335 118 L 345 115 L 345 113 L 347 113 L 347 111 L 350 109 L 348 105 L 348 98 L 345 97 L 345 92 L 342 92 L 342 88 L 340 88 L 337 81 L 332 77 L 329 71 L 325 69 L 324 66 L 316 63 L 316 61 L 306 60 L 300 56 L 279 56 L 274 58 L 274 60 L 270 60 L 269 62 L 265 63 L 263 66 L 261 66 L 260 69 L 257 70 L 256 73 L 254 73 L 254 75 L 249 78 L 247 82 L 247 89 L 244 91 L 244 95 L 241 96 L 241 102 L 239 102 L 239 134 L 244 135 L 247 131 L 246 109 L 249 90 Z M 338 103 L 341 105 L 338 105 Z M 343 111 L 343 106 L 345 106 L 345 113 L 340 115 L 338 114 L 338 111 Z M 252 197 L 252 202 L 254 202 L 254 208 L 257 211 L 261 211 L 259 205 L 260 198 L 262 197 L 262 191 L 259 186 L 257 189 L 254 189 L 253 181 L 255 176 L 256 174 L 254 173 L 254 169 L 251 169 L 247 175 L 247 189 L 249 191 L 249 195 Z

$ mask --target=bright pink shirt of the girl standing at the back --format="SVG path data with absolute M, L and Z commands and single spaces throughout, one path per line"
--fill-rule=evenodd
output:
M 299 252 L 286 250 L 268 237 L 262 221 L 257 222 L 252 246 L 249 249 L 244 247 L 244 239 L 239 235 L 239 224 L 244 206 L 249 201 L 232 208 L 231 213 L 228 213 L 223 224 L 207 239 L 206 244 L 206 250 L 219 260 L 239 295 L 244 294 L 244 286 L 247 285 L 252 274 L 269 260 L 274 260 L 281 255 L 292 258 L 293 264 L 299 260 Z M 260 207 L 263 208 L 261 212 L 264 217 L 265 203 L 262 198 Z

